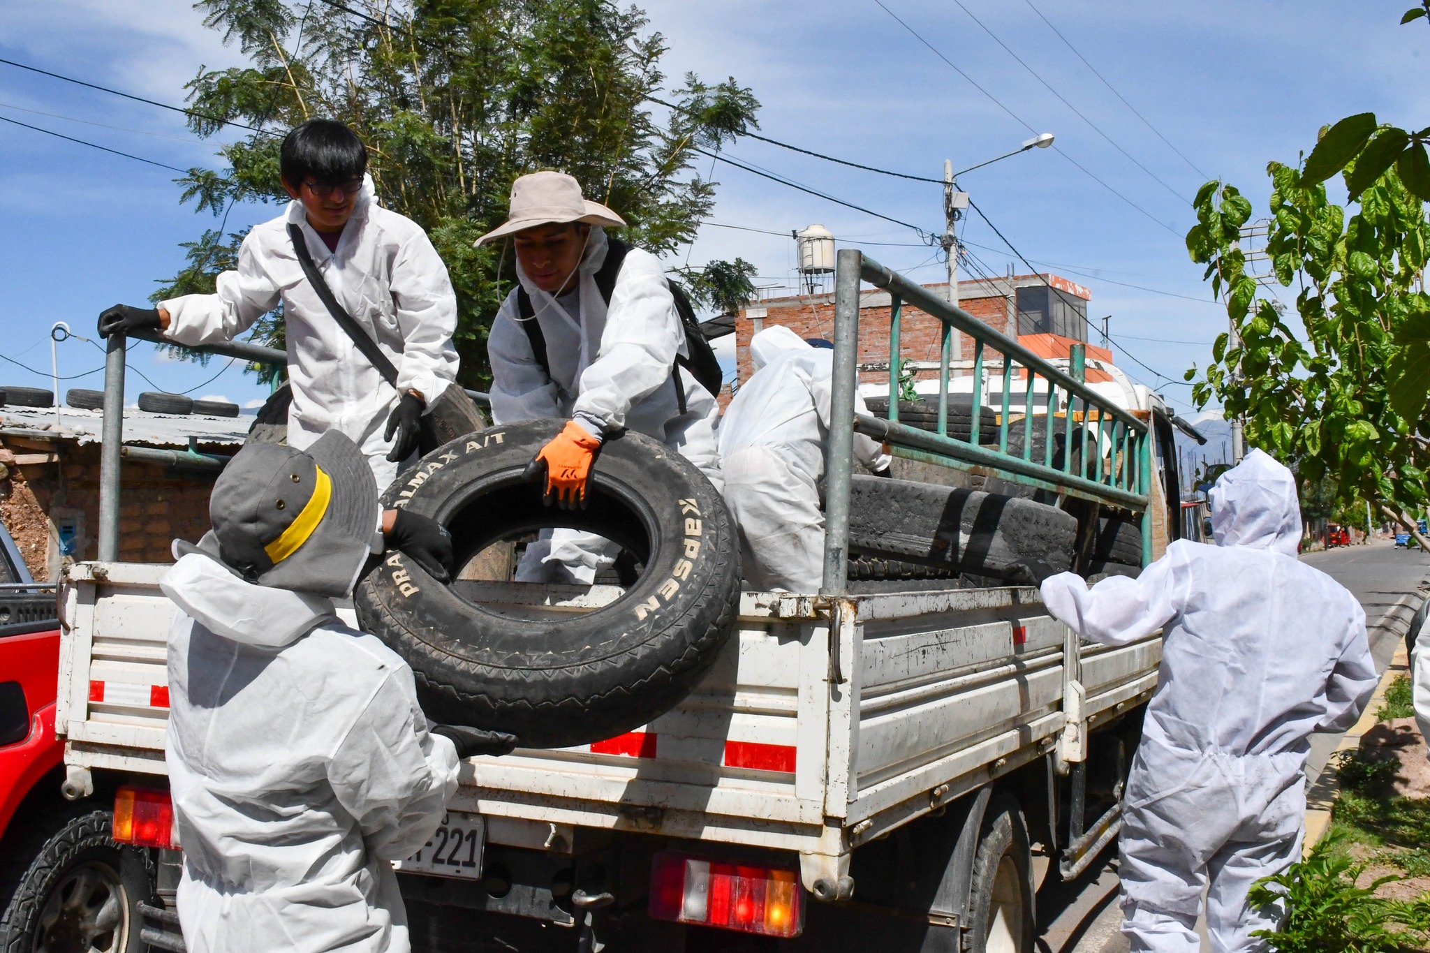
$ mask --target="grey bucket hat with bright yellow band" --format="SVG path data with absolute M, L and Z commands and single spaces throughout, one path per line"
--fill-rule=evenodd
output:
M 358 446 L 330 430 L 306 450 L 253 443 L 213 484 L 203 553 L 259 586 L 347 596 L 378 542 L 378 484 Z M 380 550 L 380 544 L 378 544 Z

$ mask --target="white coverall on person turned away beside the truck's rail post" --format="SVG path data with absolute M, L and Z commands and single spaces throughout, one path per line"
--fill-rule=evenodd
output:
M 719 429 L 725 502 L 739 527 L 741 567 L 755 589 L 817 593 L 824 582 L 824 513 L 818 483 L 829 433 L 834 351 L 788 327 L 749 340 L 755 367 Z M 868 413 L 854 394 L 854 409 Z M 882 470 L 878 443 L 854 434 L 854 457 Z

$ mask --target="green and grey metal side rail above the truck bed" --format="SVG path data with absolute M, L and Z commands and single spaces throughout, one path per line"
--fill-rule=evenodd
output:
M 858 389 L 861 280 L 889 293 L 889 409 L 887 420 L 854 413 L 854 394 Z M 1108 397 L 1074 376 L 1081 366 L 1080 350 L 1074 353 L 1074 374 L 1068 374 L 1015 339 L 994 330 L 968 311 L 954 307 L 922 286 L 869 259 L 858 249 L 839 250 L 834 300 L 834 387 L 831 401 L 831 420 L 834 423 L 829 429 L 822 593 L 844 594 L 848 592 L 849 482 L 855 431 L 882 441 L 891 453 L 901 457 L 991 473 L 1024 486 L 1141 513 L 1143 562 L 1147 562 L 1151 553 L 1153 533 L 1148 509 L 1153 479 L 1150 427 L 1147 421 L 1115 406 Z M 898 420 L 902 370 L 899 336 L 905 303 L 942 323 L 937 431 L 909 427 Z M 954 437 L 948 433 L 948 384 L 955 331 L 968 334 L 974 341 L 974 387 L 968 439 Z M 987 360 L 988 351 L 1000 356 L 997 364 Z M 994 366 L 1001 367 L 1002 376 L 997 449 L 980 443 L 982 379 L 984 373 Z M 1010 399 L 1017 379 L 1025 379 L 1024 413 L 1020 420 L 1014 421 L 1014 414 L 1010 413 Z M 1037 393 L 1038 381 L 1044 383 L 1042 393 Z M 1022 381 L 1020 380 L 1020 383 Z M 1042 406 L 1038 409 L 1034 404 L 1035 393 L 1042 400 Z M 1060 413 L 1058 409 L 1064 404 L 1065 411 Z M 1041 410 L 1045 420 L 1040 447 L 1034 446 L 1037 410 Z M 1074 426 L 1075 423 L 1081 426 Z M 1064 446 L 1061 466 L 1055 466 L 1054 461 L 1058 424 L 1061 424 Z M 1011 426 L 1020 426 L 1024 430 L 1022 450 L 1018 454 L 1008 450 Z M 1081 453 L 1074 454 L 1077 443 L 1081 444 Z M 1080 461 L 1078 469 L 1074 469 L 1074 459 Z

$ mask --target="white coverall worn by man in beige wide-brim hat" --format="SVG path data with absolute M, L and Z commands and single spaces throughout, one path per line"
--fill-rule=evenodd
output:
M 531 296 L 546 340 L 551 374 L 532 353 L 512 289 L 486 341 L 492 421 L 569 417 L 588 430 L 626 427 L 671 447 L 719 487 L 719 404 L 691 374 L 675 367 L 678 353 L 689 354 L 661 260 L 644 249 L 626 251 L 608 306 L 595 281 L 606 249 L 605 229 L 592 226 L 581 266 L 569 281 L 578 291 L 579 320 L 555 296 L 532 284 L 516 264 L 516 277 Z M 672 367 L 685 387 L 684 414 Z M 542 532 L 542 539 L 526 547 L 516 579 L 589 586 L 596 570 L 609 566 L 618 552 L 591 533 Z

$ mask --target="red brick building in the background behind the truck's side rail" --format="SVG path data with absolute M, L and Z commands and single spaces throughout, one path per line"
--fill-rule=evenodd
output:
M 947 283 L 924 287 L 947 300 Z M 1055 274 L 1014 274 L 1005 279 L 958 283 L 960 307 L 1010 337 L 1052 336 L 1067 343 L 1085 341 L 1087 304 L 1091 297 L 1093 293 L 1081 284 Z M 865 290 L 861 294 L 859 326 L 881 329 L 881 333 L 859 334 L 861 381 L 879 380 L 881 373 L 887 380 L 887 370 L 879 371 L 877 367 L 888 367 L 888 334 L 882 333 L 888 329 L 888 291 Z M 741 310 L 735 316 L 735 361 L 741 381 L 751 374 L 749 339 L 774 324 L 782 324 L 799 337 L 834 340 L 834 294 L 769 299 Z M 901 357 L 937 361 L 942 340 L 941 327 L 938 319 L 905 306 L 901 316 Z M 962 360 L 972 360 L 972 341 L 964 336 Z M 938 374 L 922 371 L 919 376 Z M 728 400 L 724 393 L 722 399 Z

